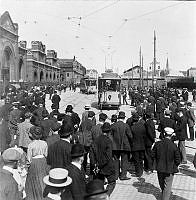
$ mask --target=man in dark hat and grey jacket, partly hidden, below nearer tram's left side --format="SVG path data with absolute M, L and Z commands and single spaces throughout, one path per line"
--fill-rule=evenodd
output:
M 107 119 L 107 115 L 105 113 L 100 113 L 99 114 L 99 123 L 96 126 L 93 126 L 92 128 L 92 138 L 93 141 L 102 134 L 102 130 L 101 127 L 103 126 L 103 124 L 105 123 Z

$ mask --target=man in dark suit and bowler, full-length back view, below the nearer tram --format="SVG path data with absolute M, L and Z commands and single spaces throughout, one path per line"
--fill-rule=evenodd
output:
M 115 160 L 115 171 L 116 179 L 128 180 L 127 169 L 128 169 L 128 158 L 130 156 L 131 147 L 129 140 L 132 139 L 132 133 L 129 125 L 124 122 L 125 113 L 120 111 L 118 115 L 118 122 L 112 125 L 111 135 L 113 142 L 115 143 L 115 149 L 113 149 L 113 155 Z M 121 157 L 121 165 L 120 165 Z M 121 166 L 121 174 L 120 174 Z M 119 176 L 120 174 L 120 176 Z

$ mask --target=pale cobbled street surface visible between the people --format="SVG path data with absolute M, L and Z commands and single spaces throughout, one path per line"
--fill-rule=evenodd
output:
M 86 104 L 92 104 L 97 101 L 96 95 L 86 95 L 81 94 L 77 90 L 76 92 L 67 90 L 66 93 L 61 93 L 61 102 L 60 102 L 60 112 L 64 112 L 68 104 L 72 104 L 74 111 L 79 114 L 81 117 L 82 112 L 84 111 L 84 106 Z M 48 100 L 49 96 L 47 95 L 46 108 L 51 111 L 51 101 Z M 99 110 L 92 108 L 96 114 L 96 119 L 98 120 Z M 131 115 L 131 108 L 129 105 L 121 106 L 120 110 L 126 113 L 127 117 Z M 115 114 L 117 111 L 103 111 L 110 118 L 112 114 Z M 181 172 L 175 175 L 173 185 L 172 185 L 172 200 L 196 200 L 196 170 L 193 168 L 191 163 L 193 155 L 196 150 L 196 141 L 187 141 L 187 157 L 189 160 L 188 165 L 181 167 Z M 192 148 L 190 148 L 192 147 Z M 189 170 L 191 169 L 191 170 Z M 160 188 L 158 184 L 156 172 L 147 175 L 144 174 L 144 182 L 138 181 L 136 177 L 131 174 L 128 174 L 128 177 L 131 177 L 128 181 L 117 181 L 116 188 L 111 195 L 111 200 L 159 200 L 160 199 Z

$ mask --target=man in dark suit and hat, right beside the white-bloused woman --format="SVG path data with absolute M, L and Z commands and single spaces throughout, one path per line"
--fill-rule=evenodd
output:
M 72 138 L 72 127 L 67 125 L 59 130 L 60 140 L 49 146 L 47 164 L 53 168 L 65 168 L 71 163 L 70 140 Z

